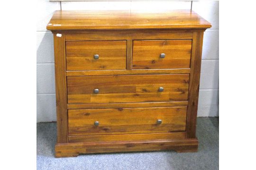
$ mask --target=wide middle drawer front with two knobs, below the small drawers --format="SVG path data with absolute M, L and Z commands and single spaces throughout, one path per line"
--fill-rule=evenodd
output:
M 69 104 L 187 101 L 189 74 L 68 76 Z

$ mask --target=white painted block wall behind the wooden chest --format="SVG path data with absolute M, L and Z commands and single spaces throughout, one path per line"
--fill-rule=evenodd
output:
M 37 122 L 56 121 L 53 35 L 55 10 L 191 9 L 212 27 L 204 34 L 198 117 L 219 116 L 219 1 L 37 1 Z

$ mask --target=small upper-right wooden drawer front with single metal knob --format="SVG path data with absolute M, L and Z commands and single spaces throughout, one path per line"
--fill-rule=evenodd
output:
M 190 68 L 191 47 L 192 40 L 133 41 L 132 68 Z

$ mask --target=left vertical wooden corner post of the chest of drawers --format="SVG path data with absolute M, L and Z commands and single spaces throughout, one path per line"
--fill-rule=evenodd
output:
M 54 34 L 57 144 L 68 142 L 65 34 Z

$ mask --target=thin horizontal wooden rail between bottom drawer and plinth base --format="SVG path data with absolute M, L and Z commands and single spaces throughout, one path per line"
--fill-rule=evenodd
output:
M 119 141 L 145 141 L 145 140 L 170 140 L 185 139 L 185 132 L 174 133 L 150 133 L 150 134 L 122 134 L 122 135 L 87 135 L 69 136 L 69 143 L 86 142 L 119 142 Z

